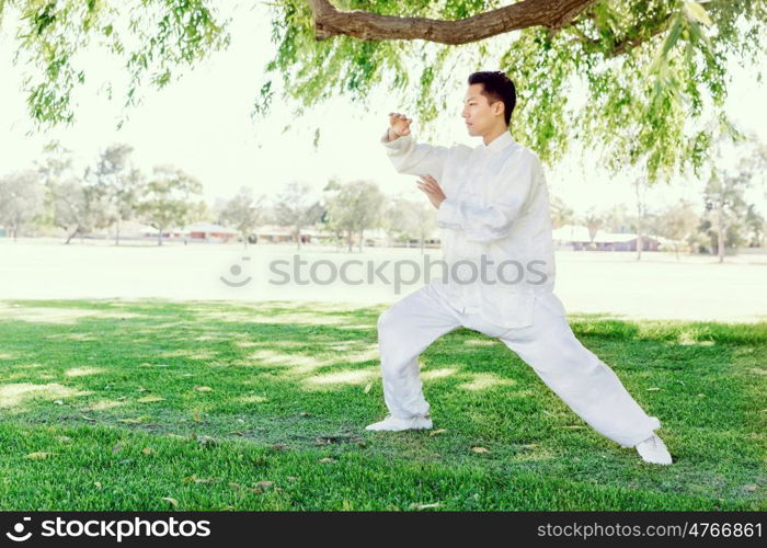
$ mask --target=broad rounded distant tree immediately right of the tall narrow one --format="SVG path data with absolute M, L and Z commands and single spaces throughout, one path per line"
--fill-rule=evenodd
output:
M 202 183 L 173 165 L 156 165 L 136 206 L 144 221 L 158 230 L 157 244 L 168 228 L 183 228 L 205 215 L 205 202 L 199 199 Z

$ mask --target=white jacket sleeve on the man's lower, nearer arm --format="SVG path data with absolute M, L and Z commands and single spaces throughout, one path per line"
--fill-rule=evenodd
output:
M 486 205 L 470 197 L 448 197 L 439 205 L 437 225 L 466 232 L 469 241 L 492 242 L 508 236 L 541 172 L 535 155 L 520 152 L 510 160 Z

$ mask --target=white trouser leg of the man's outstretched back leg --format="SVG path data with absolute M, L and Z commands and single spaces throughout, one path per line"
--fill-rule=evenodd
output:
M 537 305 L 534 324 L 500 338 L 551 390 L 594 430 L 623 447 L 661 427 L 618 376 L 575 338 L 565 317 Z

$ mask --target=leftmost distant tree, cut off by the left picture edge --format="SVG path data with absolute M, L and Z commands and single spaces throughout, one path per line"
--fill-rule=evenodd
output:
M 33 170 L 0 178 L 0 225 L 9 229 L 13 241 L 43 214 L 44 191 Z

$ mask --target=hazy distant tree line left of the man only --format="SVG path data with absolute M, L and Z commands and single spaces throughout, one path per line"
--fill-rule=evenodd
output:
M 362 250 L 366 230 L 382 228 L 393 241 L 424 242 L 436 229 L 436 214 L 427 204 L 388 197 L 371 181 L 331 180 L 321 195 L 306 182 L 289 182 L 272 198 L 248 186 L 213 208 L 203 199 L 203 184 L 184 170 L 160 164 L 145 173 L 133 162 L 133 147 L 115 144 L 92 164 L 76 167 L 70 150 L 51 144 L 32 169 L 0 178 L 0 226 L 7 236 L 37 236 L 49 228 L 73 238 L 108 229 L 119 246 L 123 225 L 138 221 L 163 233 L 207 220 L 236 229 L 244 246 L 265 225 L 290 227 L 300 248 L 302 230 L 323 230 L 351 251 Z

